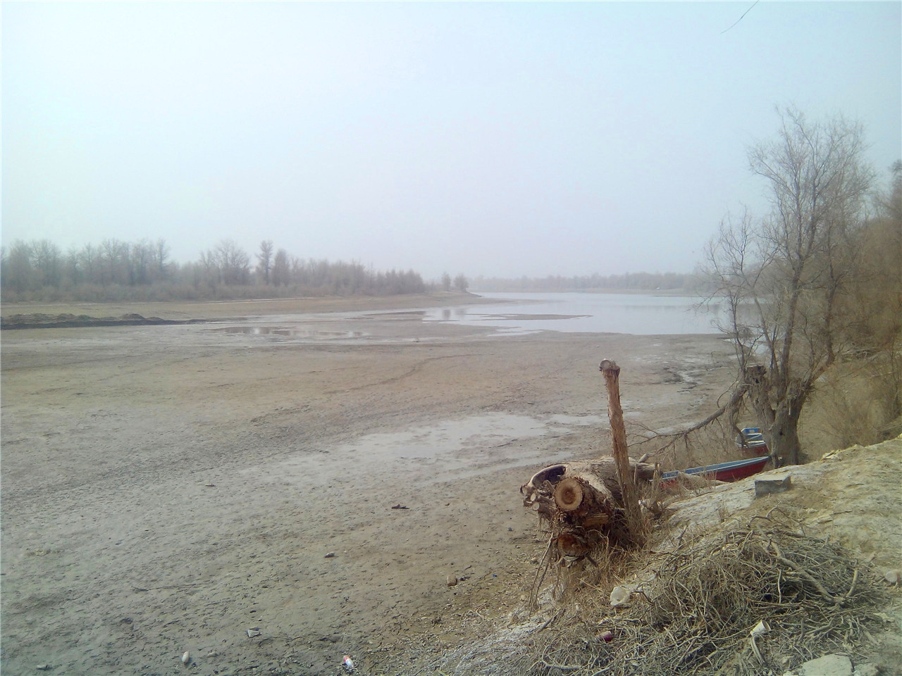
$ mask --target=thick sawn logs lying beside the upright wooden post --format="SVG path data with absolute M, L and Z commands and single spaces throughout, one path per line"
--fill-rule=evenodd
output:
M 630 476 L 648 482 L 655 466 L 629 461 Z M 523 506 L 535 509 L 551 528 L 558 558 L 588 557 L 605 540 L 615 544 L 627 534 L 617 461 L 566 462 L 538 471 L 520 487 Z

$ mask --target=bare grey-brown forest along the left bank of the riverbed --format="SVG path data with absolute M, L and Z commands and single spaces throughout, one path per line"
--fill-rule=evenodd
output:
M 165 240 L 146 239 L 107 239 L 65 253 L 49 240 L 18 240 L 0 254 L 4 302 L 391 296 L 428 290 L 412 269 L 376 271 L 356 261 L 303 260 L 269 240 L 253 258 L 223 240 L 189 263 L 170 260 Z M 456 286 L 463 279 L 458 276 Z

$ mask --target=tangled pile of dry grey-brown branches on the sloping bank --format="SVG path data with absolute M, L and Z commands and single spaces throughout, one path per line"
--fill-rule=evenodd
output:
M 520 672 L 782 673 L 824 653 L 859 652 L 888 602 L 840 547 L 769 516 L 681 536 L 638 579 L 646 581 L 619 610 L 598 588 L 575 589 L 557 631 L 537 635 Z M 762 620 L 769 631 L 752 637 Z

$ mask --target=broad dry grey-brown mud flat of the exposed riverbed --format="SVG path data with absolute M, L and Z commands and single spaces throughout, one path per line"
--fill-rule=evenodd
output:
M 328 309 L 4 332 L 4 673 L 407 673 L 520 604 L 518 489 L 609 448 L 602 358 L 651 428 L 732 379 L 715 336 Z

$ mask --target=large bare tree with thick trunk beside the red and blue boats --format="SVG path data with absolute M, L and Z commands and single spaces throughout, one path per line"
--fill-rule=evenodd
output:
M 812 123 L 795 110 L 780 118 L 777 139 L 749 152 L 771 212 L 722 224 L 706 272 L 712 297 L 728 309 L 740 365 L 734 395 L 748 397 L 775 456 L 795 464 L 799 416 L 844 348 L 837 306 L 855 269 L 873 172 L 861 125 L 842 117 Z

